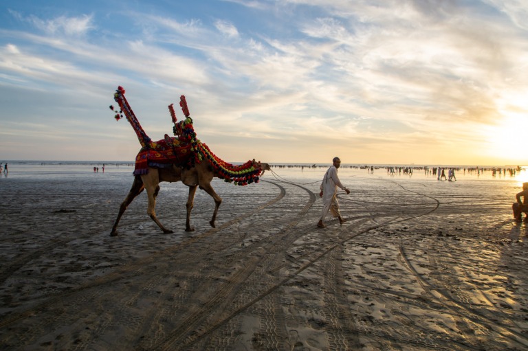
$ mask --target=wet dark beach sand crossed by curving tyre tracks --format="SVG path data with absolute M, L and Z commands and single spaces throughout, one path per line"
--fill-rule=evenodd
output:
M 326 168 L 245 187 L 162 183 L 109 236 L 131 169 L 0 178 L 1 350 L 528 350 L 515 179 L 340 169 L 347 222 L 316 223 Z M 60 173 L 60 172 L 59 172 Z

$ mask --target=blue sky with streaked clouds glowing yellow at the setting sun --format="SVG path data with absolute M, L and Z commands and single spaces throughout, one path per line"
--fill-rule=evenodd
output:
M 0 0 L 0 161 L 528 165 L 525 0 Z

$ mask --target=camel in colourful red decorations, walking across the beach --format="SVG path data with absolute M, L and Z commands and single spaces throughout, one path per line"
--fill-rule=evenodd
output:
M 179 104 L 184 112 L 185 120 L 177 122 L 173 104 L 170 104 L 168 109 L 173 120 L 175 137 L 165 135 L 165 139 L 158 141 L 152 141 L 143 131 L 140 122 L 135 117 L 126 98 L 124 98 L 124 89 L 122 87 L 118 87 L 118 90 L 115 91 L 114 100 L 120 107 L 120 111 L 117 111 L 113 106 L 110 106 L 115 111 L 115 119 L 120 120 L 123 115 L 126 117 L 126 120 L 130 122 L 134 129 L 142 148 L 135 158 L 132 188 L 121 203 L 118 218 L 115 219 L 110 233 L 111 236 L 118 235 L 117 228 L 122 215 L 133 199 L 143 190 L 146 190 L 148 196 L 148 207 L 146 210 L 148 216 L 154 220 L 164 233 L 173 233 L 172 230 L 167 229 L 159 222 L 155 212 L 159 183 L 163 181 L 181 181 L 189 187 L 186 203 L 186 231 L 194 230 L 190 226 L 190 212 L 198 187 L 205 190 L 214 199 L 214 212 L 209 222 L 211 227 L 214 227 L 214 221 L 217 218 L 222 199 L 214 192 L 211 186 L 212 179 L 217 177 L 235 185 L 248 185 L 250 183 L 258 183 L 259 177 L 264 173 L 264 170 L 270 170 L 270 166 L 267 163 L 256 162 L 254 159 L 235 166 L 214 155 L 206 144 L 197 139 L 184 95 L 181 95 Z

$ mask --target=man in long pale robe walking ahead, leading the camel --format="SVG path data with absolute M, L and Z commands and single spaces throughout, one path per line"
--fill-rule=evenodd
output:
M 350 190 L 345 188 L 338 177 L 338 168 L 341 166 L 341 160 L 339 157 L 334 157 L 332 159 L 332 166 L 325 173 L 325 177 L 322 178 L 320 185 L 321 192 L 319 196 L 322 197 L 322 214 L 317 223 L 317 226 L 320 228 L 326 227 L 323 221 L 327 216 L 328 212 L 331 211 L 334 217 L 339 218 L 339 223 L 343 224 L 345 220 L 341 217 L 339 212 L 339 203 L 338 203 L 338 187 L 350 194 Z

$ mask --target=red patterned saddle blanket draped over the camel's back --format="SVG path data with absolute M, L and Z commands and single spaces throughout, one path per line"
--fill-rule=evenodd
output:
M 165 139 L 148 141 L 135 157 L 134 175 L 147 174 L 148 167 L 168 168 L 190 167 L 194 161 L 191 144 L 183 144 L 175 137 L 165 135 Z

